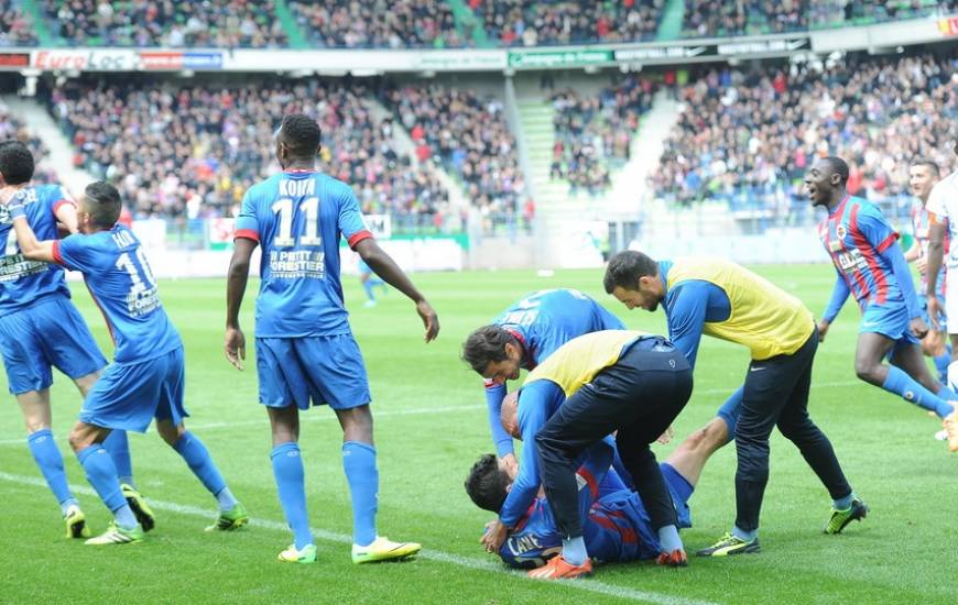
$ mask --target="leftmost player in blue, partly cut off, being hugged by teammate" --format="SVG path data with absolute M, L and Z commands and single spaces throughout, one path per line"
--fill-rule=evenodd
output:
M 0 143 L 0 187 L 4 198 L 21 196 L 26 219 L 43 239 L 57 238 L 57 228 L 76 232 L 76 204 L 59 185 L 31 186 L 34 161 L 20 141 Z M 30 261 L 17 245 L 6 207 L 0 206 L 0 350 L 10 393 L 17 397 L 26 425 L 26 442 L 66 519 L 67 538 L 87 538 L 89 529 L 70 492 L 63 457 L 51 432 L 52 367 L 73 378 L 83 396 L 107 365 L 86 322 L 69 300 L 64 272 L 56 265 Z M 153 514 L 133 487 L 133 470 L 126 431 L 104 443 L 120 470 L 123 495 L 144 526 Z

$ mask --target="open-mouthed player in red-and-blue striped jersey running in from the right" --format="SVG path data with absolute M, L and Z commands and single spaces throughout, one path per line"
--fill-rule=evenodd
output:
M 861 309 L 854 372 L 862 381 L 934 411 L 958 449 L 958 430 L 947 421 L 956 395 L 928 372 L 921 338 L 928 331 L 899 234 L 881 210 L 846 191 L 848 164 L 840 157 L 817 160 L 805 174 L 813 206 L 828 210 L 818 235 L 835 264 L 837 278 L 825 315 L 818 321 L 821 340 L 849 294 Z M 882 363 L 891 354 L 891 364 Z M 956 426 L 958 428 L 958 426 Z

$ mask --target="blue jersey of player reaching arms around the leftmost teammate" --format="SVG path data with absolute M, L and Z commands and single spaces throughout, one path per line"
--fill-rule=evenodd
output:
M 53 257 L 84 274 L 107 319 L 117 362 L 140 363 L 183 345 L 160 302 L 143 246 L 124 226 L 54 242 Z

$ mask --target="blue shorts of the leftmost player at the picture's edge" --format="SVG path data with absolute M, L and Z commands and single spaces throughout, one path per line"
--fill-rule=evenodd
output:
M 64 296 L 0 316 L 0 350 L 13 395 L 48 388 L 51 367 L 80 378 L 107 365 L 84 318 Z

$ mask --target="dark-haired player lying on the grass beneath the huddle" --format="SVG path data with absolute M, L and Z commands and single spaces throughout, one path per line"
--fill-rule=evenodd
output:
M 692 527 L 688 499 L 705 463 L 734 432 L 737 408 L 726 409 L 704 428 L 689 435 L 660 464 L 675 505 L 679 527 Z M 514 426 L 518 406 L 503 403 L 502 425 Z M 616 469 L 610 469 L 612 448 L 594 452 L 579 468 L 578 514 L 589 557 L 596 563 L 655 560 L 662 544 L 640 493 L 633 492 Z M 501 458 L 486 454 L 466 479 L 466 492 L 477 506 L 497 513 L 512 490 L 512 480 Z M 537 497 L 516 526 L 510 530 L 497 554 L 513 568 L 538 568 L 562 551 L 562 535 L 545 497 Z

